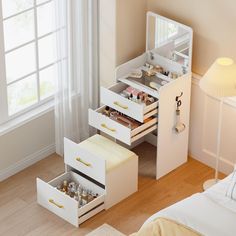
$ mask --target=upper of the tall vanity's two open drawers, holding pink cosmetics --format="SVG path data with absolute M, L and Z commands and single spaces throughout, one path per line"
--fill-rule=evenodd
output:
M 129 93 L 131 89 L 124 83 L 117 83 L 109 89 L 101 87 L 101 103 L 140 122 L 144 122 L 145 119 L 157 114 L 158 101 L 156 98 L 147 97 L 141 91 L 138 92 L 134 89 L 132 90 L 134 91 L 133 93 Z M 127 98 L 129 94 L 132 94 L 135 101 Z M 149 99 L 146 103 L 143 95 Z

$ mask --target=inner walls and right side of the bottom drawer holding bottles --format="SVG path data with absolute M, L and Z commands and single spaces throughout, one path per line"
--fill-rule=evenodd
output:
M 65 192 L 62 192 L 59 190 L 59 187 L 61 188 L 63 185 L 63 181 L 67 181 L 67 183 L 74 182 L 76 184 L 76 190 L 78 189 L 79 185 L 83 190 L 85 190 L 87 193 L 90 193 L 90 197 L 88 202 L 85 204 L 79 203 L 78 198 L 76 196 L 70 196 L 66 194 Z M 52 187 L 56 188 L 58 192 L 63 194 L 65 197 L 72 199 L 77 203 L 78 206 L 78 215 L 79 217 L 81 215 L 85 215 L 87 212 L 89 213 L 91 209 L 96 208 L 96 206 L 101 206 L 104 204 L 104 199 L 105 199 L 105 189 L 101 188 L 100 186 L 96 185 L 95 183 L 87 180 L 86 178 L 78 175 L 77 173 L 70 171 L 66 172 L 55 179 L 51 180 L 48 182 Z M 69 191 L 68 191 L 69 192 Z M 94 196 L 92 198 L 92 195 Z

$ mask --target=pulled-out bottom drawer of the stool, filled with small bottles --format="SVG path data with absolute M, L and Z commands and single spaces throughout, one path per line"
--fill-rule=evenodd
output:
M 69 195 L 57 189 L 64 180 L 80 183 L 84 188 L 97 193 L 98 197 L 84 206 Z M 78 227 L 79 224 L 102 211 L 104 207 L 105 190 L 84 177 L 70 171 L 46 183 L 37 178 L 37 201 L 40 205 Z

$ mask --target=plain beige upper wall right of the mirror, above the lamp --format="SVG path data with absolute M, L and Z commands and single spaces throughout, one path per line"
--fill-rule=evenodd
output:
M 220 56 L 236 61 L 235 0 L 147 0 L 147 9 L 193 28 L 193 72 L 204 74 Z

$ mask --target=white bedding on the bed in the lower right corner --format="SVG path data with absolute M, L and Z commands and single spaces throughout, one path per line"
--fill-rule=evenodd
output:
M 206 236 L 236 235 L 236 202 L 225 196 L 231 176 L 204 193 L 197 193 L 158 213 L 144 224 L 165 217 L 195 229 Z

